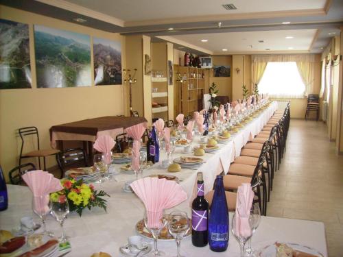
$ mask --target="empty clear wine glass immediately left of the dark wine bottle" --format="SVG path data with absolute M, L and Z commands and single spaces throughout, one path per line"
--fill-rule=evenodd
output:
M 182 257 L 180 255 L 181 241 L 190 230 L 187 213 L 179 211 L 171 212 L 169 215 L 168 230 L 171 236 L 175 238 L 176 245 L 178 246 L 178 254 L 176 257 Z

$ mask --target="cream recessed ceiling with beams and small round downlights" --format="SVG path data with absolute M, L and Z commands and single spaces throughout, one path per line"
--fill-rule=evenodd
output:
M 153 41 L 167 40 L 174 42 L 176 49 L 200 54 L 320 53 L 343 26 L 342 0 L 287 0 L 287 4 L 285 0 L 0 0 L 0 3 L 73 23 L 73 19 L 82 18 L 86 20 L 82 25 L 108 32 L 145 34 Z M 223 8 L 228 3 L 237 10 Z

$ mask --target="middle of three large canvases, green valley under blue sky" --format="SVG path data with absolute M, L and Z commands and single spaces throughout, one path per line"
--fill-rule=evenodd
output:
M 91 38 L 34 25 L 38 88 L 91 86 Z

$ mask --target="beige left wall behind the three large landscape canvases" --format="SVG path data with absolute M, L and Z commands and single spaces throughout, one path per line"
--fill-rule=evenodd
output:
M 32 89 L 0 90 L 0 164 L 5 173 L 18 164 L 19 127 L 36 126 L 41 148 L 50 147 L 49 128 L 52 125 L 93 117 L 123 114 L 123 86 L 93 86 L 83 88 L 36 88 L 33 24 L 79 32 L 100 38 L 121 41 L 122 66 L 125 67 L 123 36 L 67 23 L 47 16 L 24 12 L 0 5 L 0 18 L 29 24 L 29 50 L 32 71 Z M 93 47 L 91 47 L 93 60 Z M 93 71 L 93 61 L 91 61 Z M 93 76 L 93 74 L 92 74 Z M 47 166 L 55 165 L 47 158 Z

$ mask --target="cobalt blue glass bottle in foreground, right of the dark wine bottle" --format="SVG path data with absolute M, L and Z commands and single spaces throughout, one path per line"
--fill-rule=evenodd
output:
M 223 177 L 217 175 L 215 192 L 209 214 L 209 245 L 213 252 L 224 252 L 228 248 L 228 206 Z

